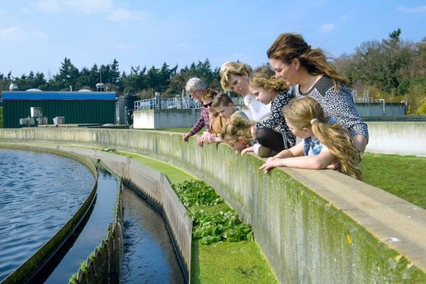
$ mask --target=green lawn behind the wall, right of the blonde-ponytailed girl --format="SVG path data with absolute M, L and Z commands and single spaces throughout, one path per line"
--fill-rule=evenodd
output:
M 426 209 L 426 158 L 365 153 L 363 181 Z

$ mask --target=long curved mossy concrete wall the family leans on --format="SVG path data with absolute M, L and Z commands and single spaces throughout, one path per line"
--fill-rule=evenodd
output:
M 187 170 L 251 224 L 281 283 L 426 283 L 426 210 L 341 173 L 264 175 L 254 155 L 158 131 L 3 129 L 0 140 L 116 148 Z

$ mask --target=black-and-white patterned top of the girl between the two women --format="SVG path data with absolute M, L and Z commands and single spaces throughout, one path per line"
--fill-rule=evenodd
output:
M 271 102 L 271 115 L 267 119 L 258 122 L 255 126 L 258 129 L 273 129 L 283 134 L 284 141 L 288 141 L 290 146 L 295 145 L 295 136 L 288 129 L 283 116 L 283 107 L 293 99 L 293 94 L 288 91 L 281 91 Z

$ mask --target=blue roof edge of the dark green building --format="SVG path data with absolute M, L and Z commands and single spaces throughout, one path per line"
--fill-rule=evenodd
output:
M 3 91 L 1 99 L 27 100 L 27 99 L 116 99 L 116 92 L 28 92 L 28 91 Z

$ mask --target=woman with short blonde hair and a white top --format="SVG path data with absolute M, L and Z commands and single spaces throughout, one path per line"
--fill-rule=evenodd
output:
M 251 118 L 262 121 L 271 114 L 271 105 L 257 102 L 250 94 L 249 76 L 251 70 L 249 65 L 241 62 L 225 62 L 220 67 L 220 84 L 225 91 L 236 92 L 244 96 L 244 104 L 250 110 Z

